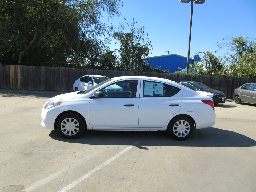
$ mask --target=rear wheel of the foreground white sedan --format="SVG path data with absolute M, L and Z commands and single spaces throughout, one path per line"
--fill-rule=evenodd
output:
M 191 136 L 194 123 L 187 117 L 174 118 L 167 128 L 167 132 L 176 140 L 185 140 Z

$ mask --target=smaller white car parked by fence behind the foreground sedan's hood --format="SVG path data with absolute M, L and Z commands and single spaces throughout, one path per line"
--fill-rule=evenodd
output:
M 84 91 L 98 85 L 99 83 L 109 79 L 106 76 L 101 75 L 84 75 L 79 79 L 75 80 L 73 84 L 74 91 Z

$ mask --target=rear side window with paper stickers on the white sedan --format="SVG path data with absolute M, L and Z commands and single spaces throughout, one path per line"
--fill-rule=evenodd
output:
M 143 97 L 171 97 L 180 90 L 165 83 L 143 81 Z

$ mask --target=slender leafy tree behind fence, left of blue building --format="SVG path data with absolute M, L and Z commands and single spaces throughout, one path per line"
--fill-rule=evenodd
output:
M 148 38 L 144 38 L 145 27 L 135 28 L 135 24 L 133 19 L 131 25 L 125 23 L 125 25 L 120 25 L 118 30 L 113 31 L 113 37 L 121 44 L 119 49 L 120 65 L 126 71 L 149 70 L 144 59 L 148 57 L 152 45 Z M 123 32 L 122 30 L 125 30 L 127 26 L 130 26 L 130 31 Z

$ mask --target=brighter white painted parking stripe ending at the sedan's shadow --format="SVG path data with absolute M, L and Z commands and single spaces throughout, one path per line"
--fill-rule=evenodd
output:
M 90 177 L 93 173 L 95 173 L 96 171 L 102 169 L 103 167 L 105 167 L 106 165 L 108 165 L 109 163 L 111 163 L 112 161 L 114 161 L 116 158 L 118 158 L 120 155 L 124 154 L 126 151 L 129 151 L 131 148 L 133 148 L 133 146 L 137 145 L 140 141 L 137 141 L 135 143 L 133 143 L 133 145 L 130 145 L 129 147 L 127 147 L 126 149 L 122 150 L 120 153 L 114 155 L 113 157 L 111 157 L 110 159 L 108 159 L 107 161 L 103 162 L 101 165 L 99 165 L 98 167 L 95 167 L 93 170 L 89 171 L 88 173 L 86 173 L 85 175 L 83 175 L 82 177 L 78 178 L 77 180 L 73 181 L 72 183 L 70 183 L 69 185 L 67 185 L 66 187 L 63 187 L 61 190 L 59 190 L 58 192 L 66 192 L 68 190 L 70 190 L 71 188 L 73 188 L 74 186 L 76 186 L 77 184 L 81 183 L 82 181 L 84 181 L 86 178 Z

